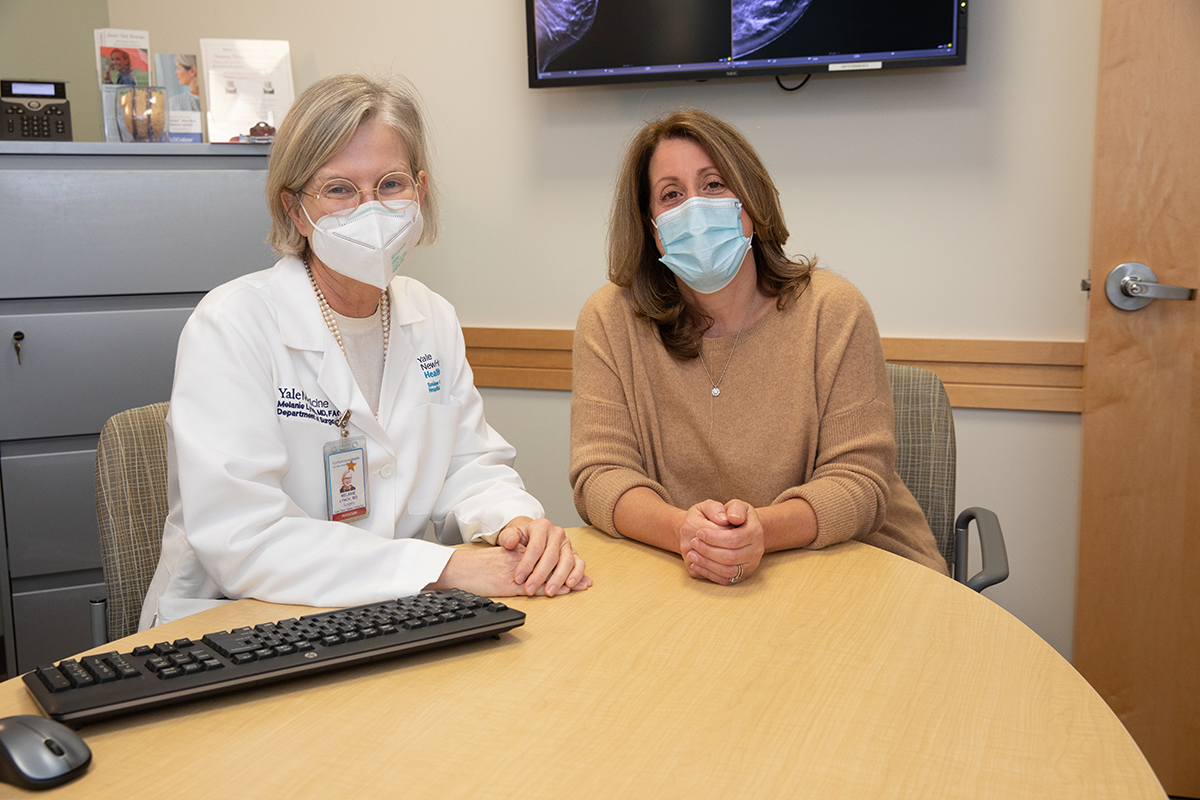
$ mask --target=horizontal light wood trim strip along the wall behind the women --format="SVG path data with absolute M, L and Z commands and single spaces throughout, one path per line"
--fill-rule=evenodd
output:
M 475 385 L 571 389 L 571 339 L 562 329 L 464 327 Z M 883 339 L 883 356 L 924 367 L 956 408 L 1084 410 L 1084 342 Z

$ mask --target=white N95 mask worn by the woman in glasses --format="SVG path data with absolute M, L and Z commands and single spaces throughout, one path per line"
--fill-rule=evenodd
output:
M 304 213 L 308 217 L 307 209 Z M 419 204 L 396 210 L 378 200 L 364 203 L 344 217 L 326 215 L 317 222 L 308 217 L 308 222 L 312 251 L 325 266 L 380 291 L 400 271 L 425 229 Z

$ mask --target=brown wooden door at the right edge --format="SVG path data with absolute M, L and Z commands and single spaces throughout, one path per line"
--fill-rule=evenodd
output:
M 1105 0 L 1100 36 L 1075 666 L 1200 798 L 1200 302 L 1104 293 L 1200 285 L 1200 0 Z

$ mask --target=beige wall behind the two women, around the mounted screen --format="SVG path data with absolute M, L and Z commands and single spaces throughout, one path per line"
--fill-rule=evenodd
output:
M 0 8 L 12 5 L 52 4 Z M 413 273 L 467 325 L 572 326 L 605 279 L 623 143 L 642 120 L 700 106 L 750 137 L 782 192 L 791 247 L 862 288 L 883 335 L 1085 336 L 1092 0 L 976 0 L 965 68 L 817 76 L 796 94 L 769 79 L 530 90 L 520 0 L 109 0 L 108 17 L 149 30 L 156 52 L 198 52 L 200 37 L 288 40 L 298 89 L 342 71 L 408 74 L 430 110 L 445 199 L 443 236 Z M 568 395 L 485 396 L 527 482 L 572 522 Z M 956 420 L 960 506 L 1000 513 L 1013 563 L 988 596 L 1069 657 L 1079 419 Z

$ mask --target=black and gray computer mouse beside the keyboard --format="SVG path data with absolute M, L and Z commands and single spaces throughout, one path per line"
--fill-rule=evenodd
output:
M 22 714 L 0 720 L 0 781 L 23 789 L 48 789 L 79 777 L 91 750 L 71 728 Z

